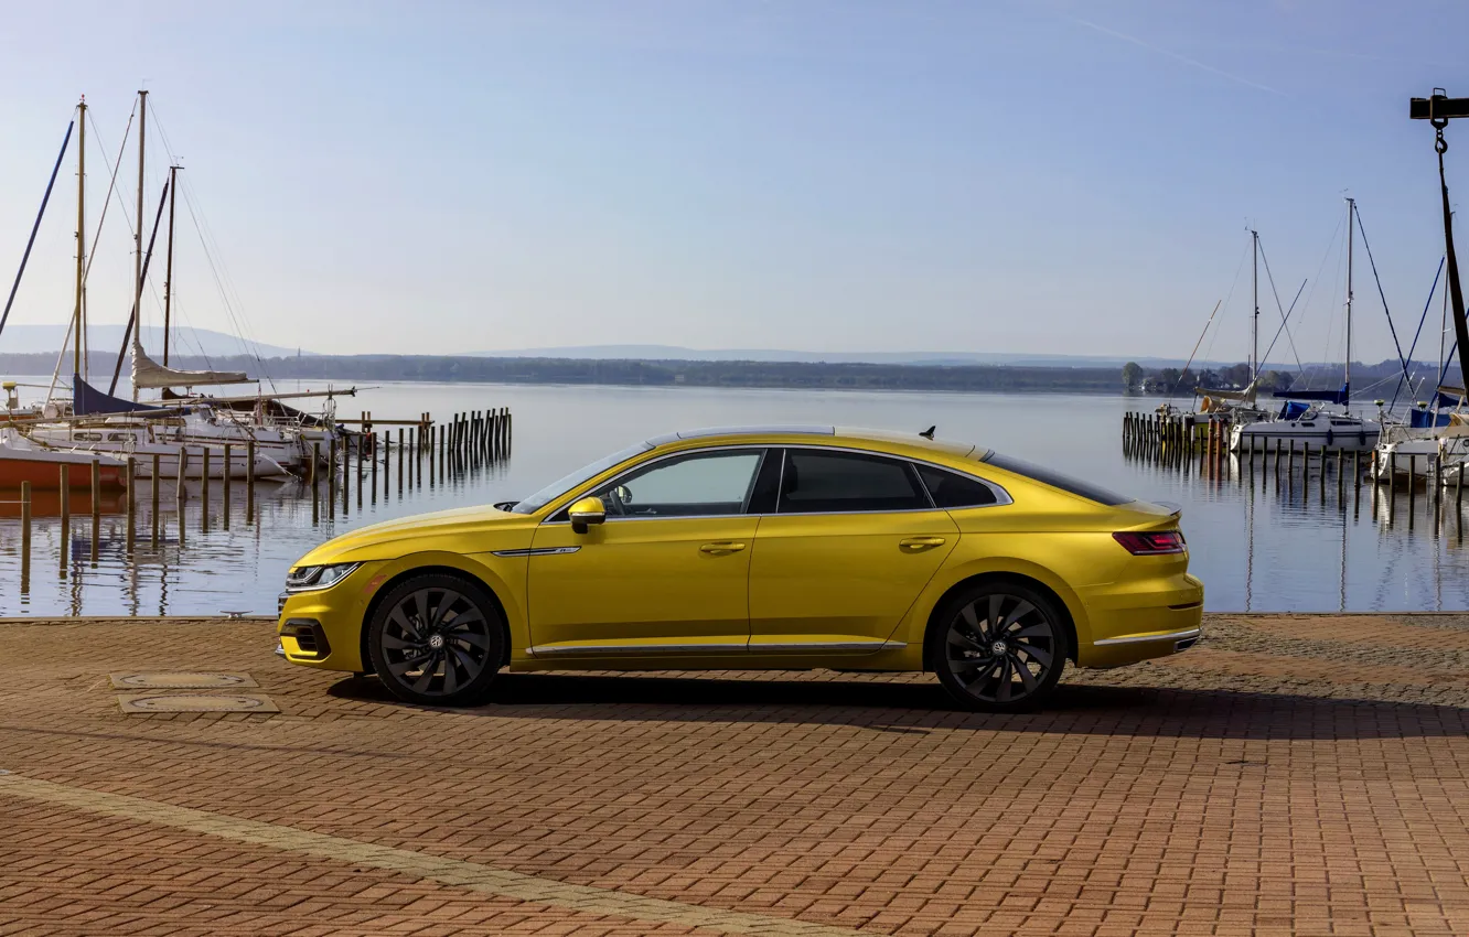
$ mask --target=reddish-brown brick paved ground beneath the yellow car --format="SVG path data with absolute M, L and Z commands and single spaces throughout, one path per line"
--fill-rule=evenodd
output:
M 259 621 L 0 623 L 0 934 L 1469 934 L 1469 620 L 1212 617 L 1044 714 L 930 679 L 504 679 Z M 279 715 L 122 715 L 248 671 Z

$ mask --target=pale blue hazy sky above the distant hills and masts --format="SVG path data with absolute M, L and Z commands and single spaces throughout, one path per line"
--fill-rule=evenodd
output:
M 4 7 L 0 283 L 79 95 L 94 228 L 147 88 L 150 226 L 170 160 L 187 179 L 175 314 L 339 354 L 1185 357 L 1221 303 L 1200 355 L 1244 360 L 1253 226 L 1282 305 L 1309 281 L 1297 352 L 1340 360 L 1349 194 L 1406 347 L 1443 254 L 1432 131 L 1407 98 L 1469 94 L 1451 65 L 1469 6 L 1448 1 Z M 1448 137 L 1469 191 L 1469 120 Z M 94 322 L 131 308 L 135 142 Z M 73 141 L 12 322 L 71 314 L 75 173 Z M 1379 361 L 1393 339 L 1356 251 L 1353 358 Z

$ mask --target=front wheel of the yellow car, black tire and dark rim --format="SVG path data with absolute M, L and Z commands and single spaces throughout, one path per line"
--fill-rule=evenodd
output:
M 398 699 L 473 706 L 486 699 L 505 659 L 505 621 L 476 583 L 438 573 L 414 576 L 378 604 L 367 626 L 367 654 L 378 679 Z

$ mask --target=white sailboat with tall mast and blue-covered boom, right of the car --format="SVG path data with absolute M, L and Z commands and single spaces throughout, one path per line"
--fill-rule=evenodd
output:
M 1341 389 L 1277 391 L 1275 397 L 1287 398 L 1279 413 L 1269 420 L 1235 426 L 1230 432 L 1231 451 L 1269 448 L 1277 442 L 1347 452 L 1371 452 L 1376 448 L 1382 433 L 1381 423 L 1346 411 L 1351 402 L 1351 247 L 1356 241 L 1356 200 L 1347 198 L 1347 354 Z M 1343 407 L 1343 411 L 1327 410 L 1325 404 Z

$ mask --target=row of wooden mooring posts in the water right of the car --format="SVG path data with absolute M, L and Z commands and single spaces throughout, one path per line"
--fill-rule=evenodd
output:
M 1213 420 L 1194 420 L 1191 417 L 1178 416 L 1153 416 L 1141 413 L 1127 413 L 1122 417 L 1122 445 L 1128 455 L 1153 458 L 1156 461 L 1188 467 L 1191 464 L 1191 454 L 1197 448 L 1200 468 L 1208 468 L 1210 466 L 1218 466 L 1230 454 L 1228 442 L 1230 426 L 1227 423 L 1219 423 Z M 1249 442 L 1244 442 L 1249 441 Z M 1300 454 L 1300 473 L 1302 473 L 1302 493 L 1306 496 L 1310 491 L 1310 466 L 1312 460 L 1319 460 L 1321 476 L 1318 492 L 1322 504 L 1327 498 L 1327 470 L 1335 464 L 1337 476 L 1337 499 L 1341 501 L 1346 477 L 1350 473 L 1353 479 L 1353 488 L 1360 498 L 1363 471 L 1362 471 L 1362 449 L 1350 449 L 1351 467 L 1347 468 L 1349 449 L 1343 446 L 1316 446 L 1315 449 L 1309 442 L 1302 442 L 1300 446 L 1296 445 L 1294 439 L 1285 441 L 1275 436 L 1274 458 L 1272 448 L 1268 445 L 1266 439 L 1256 436 L 1253 433 L 1244 433 L 1241 436 L 1240 451 L 1235 452 L 1238 457 L 1238 468 L 1235 471 L 1237 483 L 1244 483 L 1244 474 L 1249 473 L 1250 477 L 1255 476 L 1256 461 L 1260 464 L 1260 473 L 1274 468 L 1274 477 L 1281 477 L 1281 466 L 1284 463 L 1284 473 L 1287 479 L 1296 476 L 1296 455 L 1297 448 Z M 1428 471 L 1429 486 L 1432 493 L 1425 493 L 1425 498 L 1431 498 L 1435 508 L 1443 504 L 1445 496 L 1443 485 L 1443 460 L 1438 454 L 1434 455 L 1419 455 L 1407 454 L 1398 455 L 1397 452 L 1390 454 L 1390 460 L 1382 471 L 1378 471 L 1376 460 L 1378 452 L 1372 451 L 1368 454 L 1366 473 L 1368 483 L 1372 486 L 1372 498 L 1376 501 L 1378 480 L 1387 486 L 1388 511 L 1391 513 L 1393 504 L 1397 499 L 1398 476 L 1404 474 L 1400 467 L 1407 464 L 1407 505 L 1412 513 L 1418 501 L 1418 466 L 1419 460 L 1423 460 L 1423 467 Z M 1385 476 L 1385 477 L 1382 477 Z M 1454 507 L 1463 508 L 1463 470 L 1456 473 L 1453 485 Z

